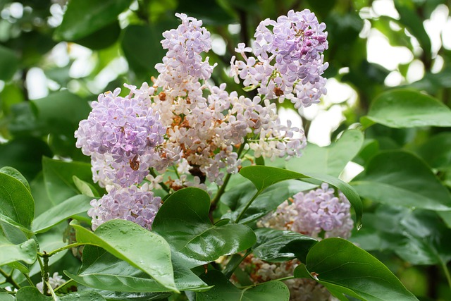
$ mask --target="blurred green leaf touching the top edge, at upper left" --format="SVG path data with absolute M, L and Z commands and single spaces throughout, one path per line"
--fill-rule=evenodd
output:
M 131 0 L 69 1 L 63 22 L 56 28 L 54 37 L 58 40 L 68 41 L 87 37 L 117 20 L 118 15 L 125 11 L 131 3 Z

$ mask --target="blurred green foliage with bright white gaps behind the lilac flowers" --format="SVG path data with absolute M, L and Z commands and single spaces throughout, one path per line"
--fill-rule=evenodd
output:
M 212 80 L 217 85 L 226 82 L 228 89 L 252 96 L 252 92 L 242 91 L 228 78 L 237 43 L 251 44 L 255 28 L 265 18 L 276 19 L 290 9 L 314 11 L 320 22 L 327 25 L 328 95 L 319 106 L 305 109 L 301 116 L 296 116 L 290 107 L 280 109 L 290 118 L 298 118 L 299 123 L 302 121 L 309 141 L 319 145 L 328 145 L 342 130 L 355 127 L 368 112 L 371 101 L 386 90 L 407 87 L 451 106 L 450 3 L 0 0 L 0 167 L 13 166 L 23 173 L 32 185 L 35 199 L 44 204 L 46 193 L 39 189 L 42 156 L 89 160 L 75 148 L 73 137 L 78 122 L 89 113 L 89 101 L 101 92 L 122 87 L 124 82 L 140 86 L 156 76 L 154 65 L 165 54 L 161 34 L 178 26 L 175 12 L 202 19 L 211 32 L 213 49 L 208 56 L 211 63 L 218 63 Z M 363 166 L 383 149 L 407 149 L 421 156 L 450 188 L 451 151 L 440 152 L 451 149 L 449 130 L 374 125 L 366 130 L 364 148 L 354 161 Z M 37 208 L 45 210 L 42 206 Z M 388 215 L 393 220 L 402 214 L 390 210 L 368 202 L 367 220 L 381 223 Z M 433 214 L 421 219 L 438 217 Z M 445 240 L 443 233 L 450 230 L 440 229 L 431 230 L 435 233 L 433 238 Z M 390 246 L 390 241 L 397 240 L 397 232 L 404 230 L 380 228 L 378 238 L 386 238 L 383 243 Z M 412 240 L 424 239 L 418 233 L 421 229 L 414 230 Z M 451 300 L 444 270 L 438 268 L 435 259 L 419 260 L 407 254 L 405 248 L 395 250 L 393 243 L 392 247 L 383 247 L 375 245 L 375 240 L 361 242 L 368 243 L 366 249 L 387 264 L 421 300 Z M 445 248 L 443 252 L 448 254 L 451 250 Z M 450 258 L 445 257 L 443 260 L 448 262 Z

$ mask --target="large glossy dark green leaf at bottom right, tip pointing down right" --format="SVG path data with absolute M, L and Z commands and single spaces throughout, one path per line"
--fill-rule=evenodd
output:
M 326 238 L 314 245 L 296 276 L 311 276 L 335 293 L 368 301 L 417 300 L 378 259 L 341 238 Z M 314 277 L 314 278 L 315 278 Z

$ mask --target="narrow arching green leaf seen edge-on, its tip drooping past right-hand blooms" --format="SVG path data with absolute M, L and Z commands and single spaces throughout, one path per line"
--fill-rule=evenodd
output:
M 361 224 L 363 213 L 362 201 L 360 200 L 360 197 L 354 190 L 354 188 L 338 178 L 316 173 L 295 173 L 294 171 L 288 171 L 286 169 L 270 166 L 243 167 L 240 170 L 240 175 L 248 178 L 252 183 L 254 183 L 259 192 L 275 183 L 290 179 L 314 178 L 316 180 L 321 180 L 322 182 L 329 183 L 330 185 L 333 185 L 335 188 L 343 192 L 347 199 L 349 199 L 356 214 L 356 226 L 359 227 L 359 225 Z

